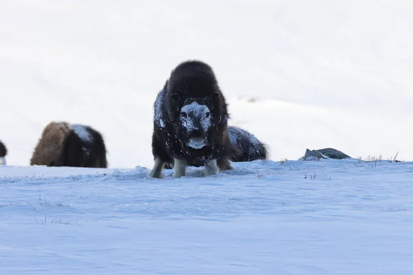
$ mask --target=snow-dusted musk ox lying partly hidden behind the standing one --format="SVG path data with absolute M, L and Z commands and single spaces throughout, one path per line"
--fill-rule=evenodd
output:
M 268 159 L 266 144 L 260 142 L 252 133 L 237 126 L 229 126 L 227 133 L 231 143 L 240 152 L 238 155 L 233 155 L 231 161 L 252 162 L 256 159 Z

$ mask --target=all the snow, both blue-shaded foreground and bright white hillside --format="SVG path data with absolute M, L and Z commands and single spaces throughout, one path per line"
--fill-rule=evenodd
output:
M 0 274 L 410 274 L 412 162 L 143 167 L 153 102 L 192 58 L 271 159 L 412 160 L 412 14 L 385 0 L 3 0 Z M 27 166 L 51 121 L 102 133 L 110 167 Z

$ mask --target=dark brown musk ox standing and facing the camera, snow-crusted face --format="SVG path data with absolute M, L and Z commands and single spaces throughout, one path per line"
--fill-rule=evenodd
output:
M 187 166 L 204 166 L 204 175 L 231 169 L 229 157 L 237 149 L 226 135 L 227 104 L 213 69 L 202 61 L 184 61 L 172 70 L 154 104 L 149 177 L 162 177 L 165 164 L 173 177 L 187 174 Z

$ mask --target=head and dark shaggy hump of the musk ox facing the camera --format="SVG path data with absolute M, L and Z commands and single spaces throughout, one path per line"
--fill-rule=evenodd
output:
M 227 117 L 224 97 L 211 67 L 187 61 L 171 72 L 165 85 L 169 121 L 186 146 L 213 146 L 222 118 Z

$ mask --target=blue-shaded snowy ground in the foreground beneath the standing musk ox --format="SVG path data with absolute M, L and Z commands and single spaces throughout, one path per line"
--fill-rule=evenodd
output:
M 413 164 L 0 166 L 0 274 L 411 274 Z

